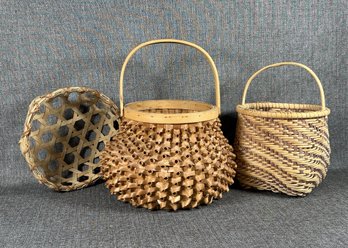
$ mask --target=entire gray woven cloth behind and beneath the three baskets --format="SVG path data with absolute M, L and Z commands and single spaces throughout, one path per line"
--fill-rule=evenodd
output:
M 347 244 L 347 9 L 345 0 L 0 0 L 0 243 Z M 220 73 L 223 130 L 231 142 L 235 107 L 253 72 L 279 61 L 311 67 L 332 110 L 327 181 L 306 198 L 232 190 L 212 206 L 175 214 L 133 209 L 102 185 L 65 194 L 38 185 L 17 144 L 32 99 L 61 87 L 87 86 L 118 101 L 127 53 L 158 38 L 192 41 L 210 53 Z M 125 78 L 126 102 L 167 98 L 214 102 L 213 78 L 201 54 L 156 45 L 135 55 Z M 279 68 L 257 77 L 248 101 L 319 103 L 319 91 L 305 71 Z

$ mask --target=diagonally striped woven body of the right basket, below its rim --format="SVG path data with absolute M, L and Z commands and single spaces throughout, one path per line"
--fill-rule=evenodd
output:
M 239 114 L 235 147 L 237 179 L 243 187 L 303 196 L 326 176 L 327 117 L 274 119 Z

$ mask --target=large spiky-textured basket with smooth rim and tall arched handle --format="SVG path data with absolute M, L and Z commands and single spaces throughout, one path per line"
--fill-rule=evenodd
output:
M 216 106 L 184 100 L 133 102 L 123 107 L 123 77 L 130 58 L 148 45 L 179 43 L 202 52 L 214 72 Z M 181 40 L 149 41 L 127 56 L 120 76 L 119 132 L 101 156 L 102 173 L 112 194 L 133 206 L 177 210 L 209 204 L 233 183 L 232 146 L 218 119 L 219 78 L 201 47 Z

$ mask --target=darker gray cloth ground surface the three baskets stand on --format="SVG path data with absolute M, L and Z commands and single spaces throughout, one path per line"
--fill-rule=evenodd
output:
M 2 247 L 347 247 L 348 172 L 304 198 L 231 189 L 209 206 L 134 208 L 104 185 L 56 193 L 0 182 Z

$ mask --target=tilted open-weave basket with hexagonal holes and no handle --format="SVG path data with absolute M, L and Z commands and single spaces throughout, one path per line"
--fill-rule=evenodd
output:
M 40 183 L 80 189 L 101 178 L 99 155 L 118 118 L 116 105 L 96 90 L 59 89 L 30 104 L 20 148 Z

